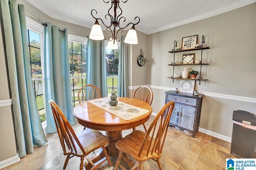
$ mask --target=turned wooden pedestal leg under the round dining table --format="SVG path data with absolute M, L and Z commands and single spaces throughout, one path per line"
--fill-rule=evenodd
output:
M 116 148 L 116 141 L 122 139 L 122 131 L 106 131 L 106 135 L 109 138 L 108 155 L 113 157 L 118 156 L 119 153 Z

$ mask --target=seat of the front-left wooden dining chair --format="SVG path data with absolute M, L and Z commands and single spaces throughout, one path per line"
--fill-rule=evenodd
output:
M 86 153 L 90 153 L 96 149 L 99 149 L 108 144 L 108 137 L 100 133 L 99 131 L 86 128 L 85 130 L 81 131 L 80 133 L 76 134 L 78 140 L 80 141 L 82 147 L 84 148 Z M 77 143 L 75 143 L 77 148 L 76 156 L 83 155 L 82 150 L 78 147 Z M 66 154 L 71 152 L 71 150 L 66 147 Z

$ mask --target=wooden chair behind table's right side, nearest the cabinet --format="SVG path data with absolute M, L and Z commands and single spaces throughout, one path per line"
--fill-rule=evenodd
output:
M 133 92 L 132 98 L 142 100 L 148 104 L 152 104 L 153 101 L 153 92 L 148 86 L 139 86 L 136 88 Z M 143 123 L 143 127 L 145 129 L 145 132 L 147 131 L 146 125 Z M 133 128 L 133 131 L 135 131 L 136 128 Z

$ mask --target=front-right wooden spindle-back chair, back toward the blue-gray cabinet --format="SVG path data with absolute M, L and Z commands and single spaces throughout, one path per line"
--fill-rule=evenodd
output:
M 132 170 L 138 165 L 140 165 L 140 170 L 142 170 L 143 162 L 149 159 L 156 161 L 159 169 L 162 170 L 160 158 L 173 109 L 174 102 L 168 102 L 158 112 L 146 133 L 136 130 L 116 142 L 116 147 L 120 150 L 120 154 L 116 161 L 115 170 L 118 168 L 123 153 L 137 161 Z M 125 169 L 122 164 L 120 166 Z

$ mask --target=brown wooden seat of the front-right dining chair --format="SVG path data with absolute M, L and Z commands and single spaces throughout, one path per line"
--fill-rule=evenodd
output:
M 120 151 L 132 156 L 135 160 L 140 161 L 140 162 L 141 161 L 144 162 L 149 159 L 160 158 L 161 154 L 159 154 L 159 156 L 158 156 L 158 154 L 156 152 L 153 152 L 152 154 L 149 153 L 148 156 L 146 156 L 148 146 L 150 145 L 150 140 L 151 140 L 150 137 L 147 139 L 147 141 L 144 145 L 145 149 L 142 151 L 140 157 L 138 156 L 138 153 L 142 147 L 142 142 L 144 140 L 145 135 L 146 135 L 146 133 L 142 132 L 140 130 L 133 131 L 126 137 L 118 140 L 116 142 L 116 147 Z M 129 143 L 129 145 L 127 145 L 128 143 Z

